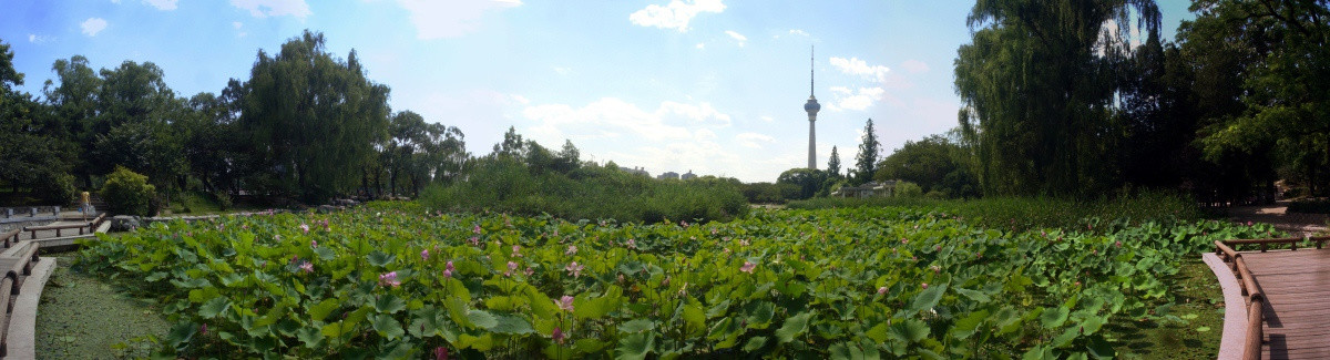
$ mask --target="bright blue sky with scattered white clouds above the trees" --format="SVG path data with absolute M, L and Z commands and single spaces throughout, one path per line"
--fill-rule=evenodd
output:
M 257 53 L 302 31 L 354 49 L 394 112 L 456 126 L 475 155 L 509 126 L 583 159 L 774 182 L 807 166 L 813 93 L 818 167 L 854 163 L 871 118 L 884 153 L 956 126 L 952 61 L 970 1 L 735 0 L 0 0 L 20 90 L 40 94 L 57 58 L 94 69 L 152 61 L 177 96 L 247 80 Z M 1164 39 L 1193 19 L 1158 1 Z M 815 52 L 810 53 L 810 48 Z

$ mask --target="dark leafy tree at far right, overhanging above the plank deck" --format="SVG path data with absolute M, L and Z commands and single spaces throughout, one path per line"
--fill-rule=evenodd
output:
M 1180 39 L 1198 58 L 1197 92 L 1224 112 L 1202 114 L 1208 159 L 1274 161 L 1325 194 L 1330 185 L 1330 8 L 1326 1 L 1205 0 Z M 1218 58 L 1225 56 L 1226 58 Z M 1202 81 L 1234 89 L 1206 89 Z M 1241 86 L 1234 86 L 1234 85 Z M 1210 92 L 1229 97 L 1212 96 Z M 1273 155 L 1273 157 L 1271 157 Z M 1265 181 L 1273 183 L 1270 169 Z M 1269 187 L 1269 185 L 1266 185 Z

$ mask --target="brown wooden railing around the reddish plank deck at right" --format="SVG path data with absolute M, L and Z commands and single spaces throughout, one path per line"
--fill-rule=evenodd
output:
M 1311 242 L 1315 243 L 1317 248 L 1325 247 L 1326 242 L 1330 242 L 1330 236 L 1314 236 L 1314 238 L 1279 238 L 1279 239 L 1241 239 L 1241 240 L 1216 240 L 1214 254 L 1229 263 L 1229 268 L 1238 278 L 1238 287 L 1242 288 L 1242 296 L 1248 298 L 1248 328 L 1246 339 L 1242 348 L 1242 359 L 1260 360 L 1261 359 L 1261 344 L 1265 337 L 1265 291 L 1261 290 L 1261 284 L 1257 283 L 1256 276 L 1252 275 L 1252 270 L 1248 268 L 1246 260 L 1242 259 L 1242 254 L 1234 250 L 1237 246 L 1258 246 L 1261 252 L 1270 250 L 1270 246 L 1289 246 L 1289 250 L 1297 251 L 1298 244 Z

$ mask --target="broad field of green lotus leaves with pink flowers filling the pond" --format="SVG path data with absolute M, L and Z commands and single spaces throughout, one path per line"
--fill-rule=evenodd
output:
M 1222 222 L 1004 232 L 947 214 L 758 210 L 696 225 L 438 214 L 375 203 L 104 236 L 144 279 L 164 355 L 297 357 L 1112 356 L 1109 320 L 1160 316 L 1168 275 Z M 1165 280 L 1161 280 L 1165 279 Z

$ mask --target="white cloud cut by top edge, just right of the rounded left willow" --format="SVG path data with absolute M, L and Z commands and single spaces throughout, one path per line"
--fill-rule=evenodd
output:
M 398 0 L 411 13 L 416 39 L 458 37 L 480 28 L 480 17 L 489 11 L 521 5 L 519 0 Z

